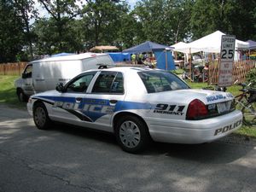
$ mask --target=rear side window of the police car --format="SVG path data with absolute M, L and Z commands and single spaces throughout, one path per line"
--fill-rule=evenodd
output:
M 124 93 L 124 78 L 122 73 L 102 72 L 96 79 L 92 93 Z

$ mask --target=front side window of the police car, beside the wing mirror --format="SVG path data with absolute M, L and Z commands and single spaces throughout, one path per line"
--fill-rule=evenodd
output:
M 95 73 L 85 73 L 80 75 L 77 79 L 67 84 L 67 92 L 77 92 L 84 93 L 90 84 L 91 79 L 94 77 Z

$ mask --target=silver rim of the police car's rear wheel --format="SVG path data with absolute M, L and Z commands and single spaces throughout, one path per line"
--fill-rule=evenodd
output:
M 136 148 L 141 141 L 141 132 L 132 121 L 125 121 L 119 129 L 119 138 L 126 148 Z

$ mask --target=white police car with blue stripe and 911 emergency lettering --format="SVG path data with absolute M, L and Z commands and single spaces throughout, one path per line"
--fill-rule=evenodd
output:
M 230 93 L 193 90 L 173 73 L 140 67 L 86 71 L 65 86 L 31 96 L 27 108 L 38 129 L 58 121 L 113 132 L 130 153 L 151 139 L 209 143 L 242 123 Z

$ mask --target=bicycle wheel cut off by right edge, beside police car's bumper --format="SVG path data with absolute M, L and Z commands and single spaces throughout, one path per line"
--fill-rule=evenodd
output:
M 243 114 L 243 123 L 247 126 L 256 128 L 256 104 L 248 103 L 246 107 L 241 109 Z

